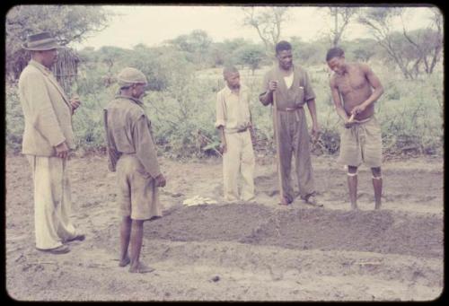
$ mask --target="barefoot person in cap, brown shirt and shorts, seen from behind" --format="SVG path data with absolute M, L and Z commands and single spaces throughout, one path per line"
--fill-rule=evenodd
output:
M 143 224 L 162 216 L 158 188 L 165 186 L 159 169 L 150 120 L 140 100 L 147 85 L 145 74 L 124 68 L 118 74 L 119 94 L 104 109 L 109 166 L 117 169 L 120 228 L 119 266 L 131 273 L 153 271 L 140 261 Z M 129 254 L 128 254 L 129 247 Z

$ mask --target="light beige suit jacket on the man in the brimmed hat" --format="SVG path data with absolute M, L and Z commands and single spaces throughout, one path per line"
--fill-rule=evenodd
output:
M 64 141 L 75 148 L 73 108 L 45 66 L 31 59 L 19 78 L 19 97 L 25 118 L 23 154 L 54 156 L 55 146 Z

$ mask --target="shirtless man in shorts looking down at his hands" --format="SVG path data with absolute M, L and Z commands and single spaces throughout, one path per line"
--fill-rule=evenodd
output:
M 374 117 L 374 102 L 383 94 L 383 86 L 365 64 L 346 63 L 341 48 L 330 48 L 326 61 L 335 73 L 330 91 L 335 109 L 344 121 L 340 135 L 339 162 L 348 166 L 351 208 L 357 209 L 357 167 L 362 162 L 371 168 L 375 209 L 381 208 L 382 135 Z

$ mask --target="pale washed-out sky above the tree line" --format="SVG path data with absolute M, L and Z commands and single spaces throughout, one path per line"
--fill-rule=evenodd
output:
M 119 15 L 113 17 L 110 26 L 92 34 L 75 48 L 115 46 L 133 48 L 137 44 L 158 46 L 164 40 L 174 39 L 194 30 L 207 31 L 215 41 L 243 38 L 260 42 L 257 31 L 243 27 L 242 6 L 212 5 L 105 5 L 105 9 Z M 290 8 L 290 21 L 281 32 L 281 39 L 298 36 L 311 41 L 326 35 L 332 27 L 330 17 L 324 8 L 317 6 L 295 6 Z M 406 15 L 408 30 L 425 27 L 429 23 L 428 8 L 409 7 Z M 401 23 L 397 23 L 401 30 Z M 352 25 L 345 32 L 344 39 L 366 37 L 365 29 Z

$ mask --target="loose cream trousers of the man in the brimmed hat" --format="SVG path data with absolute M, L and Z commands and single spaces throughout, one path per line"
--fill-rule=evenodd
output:
M 27 155 L 34 182 L 36 248 L 54 249 L 75 238 L 70 222 L 72 200 L 67 161 L 58 157 Z

